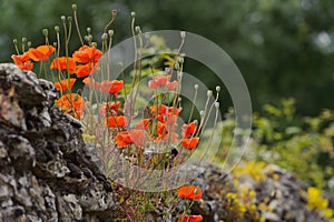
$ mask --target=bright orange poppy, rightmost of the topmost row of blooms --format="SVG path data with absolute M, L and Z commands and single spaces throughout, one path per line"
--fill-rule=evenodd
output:
M 102 57 L 102 52 L 95 47 L 84 46 L 78 51 L 72 54 L 73 59 L 77 62 L 88 63 L 88 62 L 98 62 Z

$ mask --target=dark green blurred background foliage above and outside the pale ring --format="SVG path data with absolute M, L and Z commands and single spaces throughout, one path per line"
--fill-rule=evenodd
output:
M 81 30 L 91 27 L 98 40 L 116 9 L 116 42 L 130 37 L 131 11 L 143 31 L 186 30 L 214 41 L 239 68 L 256 111 L 288 97 L 296 99 L 301 115 L 334 109 L 333 0 L 1 0 L 0 61 L 11 61 L 13 38 L 27 37 L 37 47 L 48 28 L 52 39 L 72 3 Z

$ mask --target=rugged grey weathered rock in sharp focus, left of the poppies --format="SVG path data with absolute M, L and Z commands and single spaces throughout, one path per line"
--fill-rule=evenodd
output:
M 111 185 L 56 98 L 52 83 L 0 64 L 0 221 L 111 218 Z

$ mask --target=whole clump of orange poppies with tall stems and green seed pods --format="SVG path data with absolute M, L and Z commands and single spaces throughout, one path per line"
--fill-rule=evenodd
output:
M 212 107 L 208 105 L 208 101 L 212 99 L 213 92 L 208 91 L 206 107 L 200 112 L 200 121 L 191 120 L 193 105 L 188 121 L 181 121 L 183 123 L 179 124 L 178 120 L 183 112 L 180 90 L 185 59 L 183 54 L 174 53 L 168 56 L 168 67 L 164 71 L 150 73 L 149 80 L 144 87 L 154 92 L 155 99 L 146 104 L 143 118 L 137 120 L 135 104 L 140 99 L 137 91 L 143 79 L 140 59 L 135 61 L 134 77 L 128 83 L 131 90 L 126 89 L 125 79 L 112 79 L 110 69 L 100 63 L 104 52 L 111 49 L 114 30 L 108 30 L 108 28 L 114 22 L 117 12 L 112 11 L 112 18 L 105 27 L 101 47 L 98 49 L 98 43 L 92 41 L 90 28 L 87 29 L 87 36 L 81 37 L 77 23 L 77 6 L 73 4 L 72 9 L 73 21 L 81 43 L 77 50 L 72 53 L 69 52 L 72 18 L 61 17 L 65 29 L 63 41 L 60 41 L 59 27 L 55 27 L 57 42 L 52 46 L 49 42 L 48 30 L 42 32 L 46 37 L 43 46 L 32 48 L 31 43 L 26 44 L 24 40 L 21 53 L 18 49 L 18 42 L 14 40 L 17 54 L 12 56 L 13 62 L 23 71 L 30 71 L 36 64 L 39 64 L 39 70 L 47 70 L 46 73 L 51 74 L 53 84 L 59 91 L 59 98 L 55 102 L 56 107 L 65 114 L 82 121 L 85 138 L 89 135 L 90 139 L 95 140 L 97 149 L 100 149 L 107 173 L 112 171 L 115 157 L 124 158 L 131 164 L 149 170 L 168 170 L 176 167 L 177 161 L 170 159 L 171 153 L 174 159 L 178 159 L 178 163 L 185 161 L 184 157 L 190 155 L 198 148 L 200 132 L 206 127 L 210 111 L 213 108 L 216 108 L 216 111 L 219 108 L 217 102 L 219 90 L 216 90 L 217 95 Z M 135 14 L 131 13 L 131 16 L 132 33 L 143 41 L 140 28 L 134 27 Z M 185 33 L 180 37 L 181 42 L 184 42 Z M 28 48 L 26 49 L 26 47 Z M 61 50 L 61 48 L 65 49 Z M 138 58 L 140 58 L 143 48 L 140 46 L 137 49 L 136 46 Z M 65 53 L 62 54 L 62 52 Z M 100 79 L 96 77 L 96 73 Z M 82 82 L 88 89 L 88 97 L 80 93 L 82 90 L 75 90 L 78 82 Z M 194 90 L 194 100 L 196 100 L 198 85 L 195 85 Z M 149 154 L 149 148 L 167 150 L 168 155 Z M 174 149 L 173 152 L 171 148 Z M 202 190 L 199 186 L 189 184 L 179 188 L 177 195 L 180 199 L 196 201 L 202 199 Z M 130 195 L 127 195 L 120 202 L 124 204 L 124 209 L 131 211 L 131 213 L 125 213 L 128 219 L 131 219 L 137 212 L 134 208 L 137 206 L 126 208 L 130 204 L 127 201 L 129 198 Z M 196 222 L 202 221 L 203 216 L 181 212 L 177 220 Z

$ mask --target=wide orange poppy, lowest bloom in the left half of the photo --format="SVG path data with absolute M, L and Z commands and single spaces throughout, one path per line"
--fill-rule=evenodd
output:
M 141 147 L 145 141 L 145 133 L 141 130 L 130 130 L 117 133 L 115 138 L 118 148 L 126 148 L 129 144 Z

